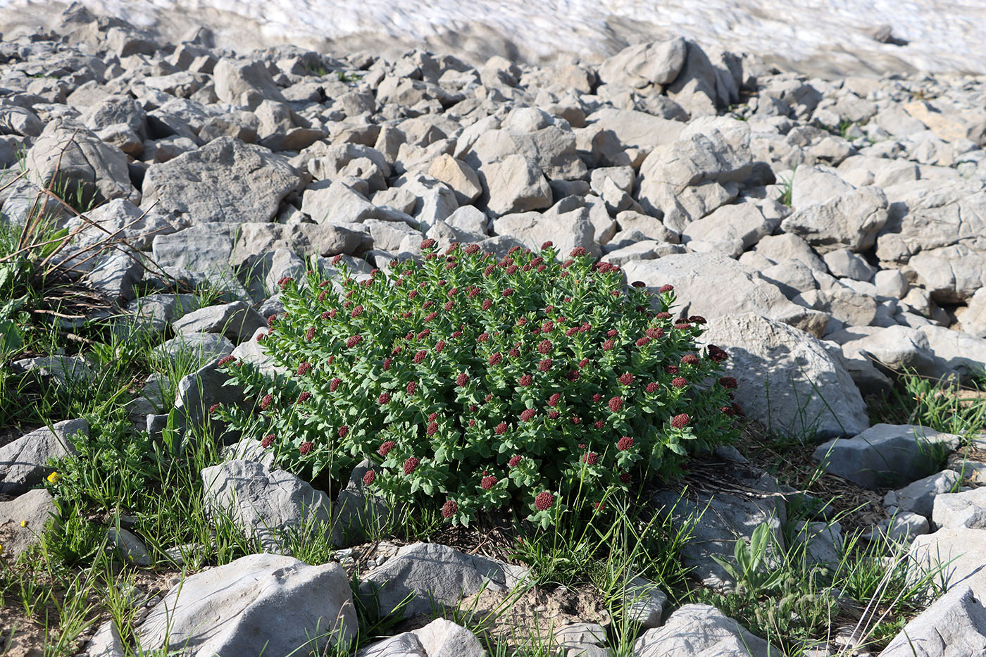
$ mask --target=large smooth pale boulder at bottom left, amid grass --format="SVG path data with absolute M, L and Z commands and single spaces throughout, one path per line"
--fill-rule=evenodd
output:
M 261 553 L 186 577 L 135 633 L 143 651 L 211 657 L 323 654 L 358 629 L 342 566 Z

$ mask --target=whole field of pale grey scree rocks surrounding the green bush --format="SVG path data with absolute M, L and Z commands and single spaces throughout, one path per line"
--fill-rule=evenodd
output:
M 136 320 L 173 330 L 176 350 L 192 344 L 214 356 L 178 387 L 189 424 L 236 395 L 220 385 L 220 357 L 269 365 L 255 338 L 282 312 L 277 281 L 307 268 L 306 256 L 331 271 L 341 255 L 368 275 L 419 255 L 425 237 L 497 255 L 550 240 L 561 253 L 583 248 L 622 267 L 627 282 L 673 285 L 680 312 L 705 316 L 705 338 L 731 354 L 727 375 L 740 382 L 736 401 L 748 417 L 828 441 L 816 452 L 827 472 L 871 488 L 909 484 L 887 497 L 894 521 L 875 531 L 921 535 L 915 558 L 962 555 L 947 566 L 949 593 L 908 636 L 931 637 L 945 615 L 960 621 L 944 645 L 981 649 L 981 503 L 975 489 L 947 493 L 956 474 L 926 472 L 919 444 L 955 448 L 959 438 L 871 427 L 861 393 L 886 389 L 887 373 L 903 368 L 968 379 L 986 362 L 984 106 L 982 77 L 808 79 L 728 52 L 710 56 L 681 38 L 631 46 L 599 66 L 492 57 L 472 67 L 420 50 L 388 61 L 289 46 L 235 56 L 209 47 L 205 32 L 165 44 L 76 9 L 51 34 L 0 43 L 0 165 L 9 180 L 26 171 L 0 191 L 0 221 L 23 223 L 56 169 L 95 196 L 87 216 L 161 270 L 107 252 L 80 265 L 88 283 Z M 80 233 L 76 248 L 97 232 Z M 165 292 L 175 280 L 232 288 L 240 300 L 181 317 L 189 298 Z M 57 375 L 66 364 L 17 366 Z M 133 412 L 154 435 L 167 415 L 151 397 Z M 31 488 L 48 458 L 71 452 L 68 437 L 83 424 L 0 448 L 3 490 L 43 517 L 45 501 Z M 779 490 L 769 475 L 731 467 L 750 486 Z M 235 500 L 249 531 L 297 526 L 310 511 L 328 520 L 324 492 L 271 468 L 262 448 L 242 444 L 202 476 L 211 503 Z M 342 494 L 362 496 L 360 481 L 354 473 Z M 720 520 L 684 556 L 707 583 L 728 585 L 712 556 L 732 554 L 760 521 L 783 542 L 785 502 L 715 503 Z M 830 530 L 837 547 L 837 526 Z M 146 554 L 139 537 L 119 539 Z M 269 548 L 279 550 L 276 537 Z M 455 603 L 483 582 L 507 589 L 523 576 L 422 544 L 383 559 L 367 581 L 387 582 L 395 600 L 412 592 L 419 602 L 428 593 Z M 663 595 L 652 593 L 637 654 L 765 654 L 762 639 L 714 608 L 663 619 Z M 317 621 L 331 625 L 332 641 L 355 632 L 340 567 L 287 555 L 255 554 L 189 577 L 140 625 L 144 649 L 162 645 L 163 615 L 176 605 L 171 640 L 190 641 L 195 654 L 245 654 L 256 632 L 280 641 L 265 654 L 286 654 L 304 636 L 281 630 Z M 206 613 L 230 622 L 199 627 Z M 272 622 L 275 614 L 284 616 Z M 102 627 L 88 654 L 120 654 L 114 631 Z M 573 646 L 602 649 L 596 629 L 580 631 Z M 944 654 L 941 641 L 927 641 L 922 654 Z M 367 654 L 444 654 L 453 645 L 481 651 L 468 630 L 436 620 Z M 907 645 L 894 640 L 882 654 L 910 654 Z

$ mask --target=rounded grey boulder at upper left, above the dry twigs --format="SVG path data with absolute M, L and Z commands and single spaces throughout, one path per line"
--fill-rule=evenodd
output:
M 65 198 L 81 187 L 84 199 L 103 202 L 110 198 L 136 199 L 130 184 L 126 156 L 85 128 L 70 128 L 59 121 L 45 126 L 28 151 L 28 180 L 39 186 L 65 186 Z M 52 179 L 56 182 L 52 183 Z

